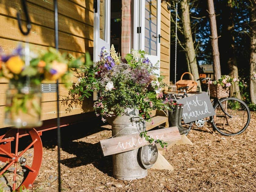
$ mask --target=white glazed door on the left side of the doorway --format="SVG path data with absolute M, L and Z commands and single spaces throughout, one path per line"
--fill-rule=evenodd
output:
M 94 0 L 94 62 L 102 47 L 110 49 L 110 0 Z

